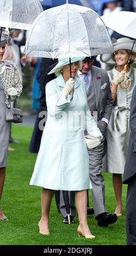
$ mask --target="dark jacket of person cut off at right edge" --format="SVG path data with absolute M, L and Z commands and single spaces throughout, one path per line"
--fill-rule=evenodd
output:
M 129 137 L 123 184 L 128 184 L 129 179 L 136 174 L 136 86 L 133 90 L 130 113 L 131 135 Z

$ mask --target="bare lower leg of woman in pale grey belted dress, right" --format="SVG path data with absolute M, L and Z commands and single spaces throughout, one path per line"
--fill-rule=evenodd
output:
M 117 216 L 122 215 L 122 176 L 121 174 L 113 173 L 113 187 L 116 197 L 116 210 Z

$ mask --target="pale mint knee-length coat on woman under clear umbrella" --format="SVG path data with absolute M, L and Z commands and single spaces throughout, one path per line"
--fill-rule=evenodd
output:
M 48 117 L 30 185 L 51 190 L 91 188 L 84 129 L 102 136 L 88 111 L 83 81 L 75 78 L 75 93 L 65 99 L 63 76 L 46 85 Z

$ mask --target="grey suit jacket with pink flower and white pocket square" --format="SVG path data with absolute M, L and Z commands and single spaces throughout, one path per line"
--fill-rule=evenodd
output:
M 110 90 L 110 83 L 108 73 L 106 70 L 92 66 L 91 68 L 91 86 L 95 88 L 95 99 L 97 115 L 98 115 L 98 127 L 101 131 L 105 131 L 107 126 L 101 121 L 102 118 L 110 119 L 113 108 L 113 99 Z M 90 86 L 90 89 L 91 89 Z M 88 106 L 90 111 L 95 111 L 92 106 L 90 91 L 87 94 Z M 90 107 L 91 106 L 91 107 Z

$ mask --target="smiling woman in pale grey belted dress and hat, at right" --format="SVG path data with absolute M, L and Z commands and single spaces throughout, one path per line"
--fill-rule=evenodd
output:
M 103 62 L 115 63 L 108 71 L 114 101 L 112 115 L 107 129 L 107 154 L 103 160 L 103 170 L 113 173 L 113 186 L 116 197 L 115 214 L 122 215 L 122 175 L 125 167 L 127 145 L 129 138 L 129 114 L 133 89 L 136 84 L 136 69 L 131 64 L 136 57 L 136 44 L 132 54 L 134 40 L 120 38 L 114 42 L 115 55 L 103 54 Z M 129 62 L 126 68 L 126 64 Z M 126 71 L 125 71 L 126 68 Z M 124 78 L 126 76 L 126 82 Z

